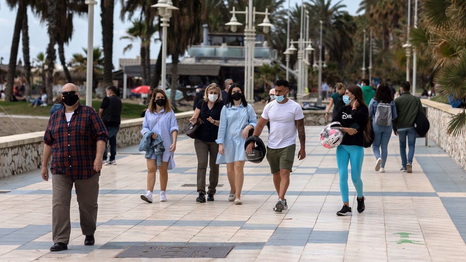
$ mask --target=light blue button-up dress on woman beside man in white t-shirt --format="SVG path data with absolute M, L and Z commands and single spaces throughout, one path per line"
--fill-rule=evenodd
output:
M 238 108 L 234 106 L 222 108 L 219 135 L 215 142 L 223 144 L 225 154 L 223 156 L 220 153 L 217 155 L 217 164 L 246 160 L 244 153 L 246 139 L 243 139 L 241 133 L 247 125 L 252 125 L 255 128 L 256 124 L 256 113 L 250 104 L 247 104 L 247 107 L 240 104 Z

